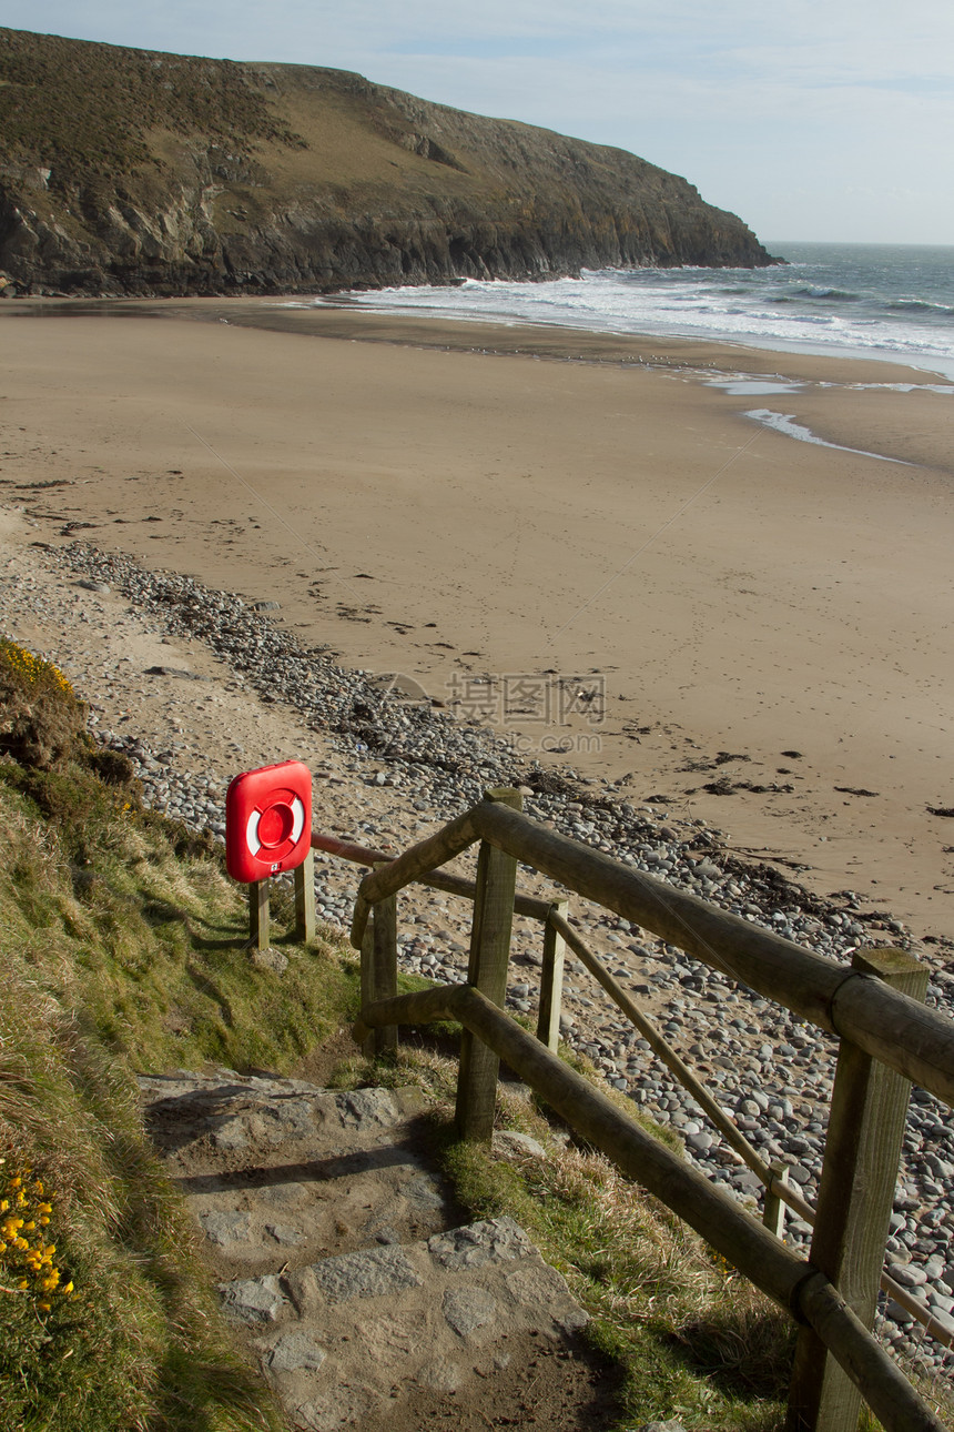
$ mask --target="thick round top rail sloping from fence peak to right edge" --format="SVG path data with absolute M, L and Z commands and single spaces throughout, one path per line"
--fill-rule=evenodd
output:
M 850 1038 L 867 1054 L 954 1104 L 954 1021 L 861 969 L 758 929 L 695 895 L 489 802 L 473 808 L 479 836 L 568 889 L 652 929 L 697 959 Z

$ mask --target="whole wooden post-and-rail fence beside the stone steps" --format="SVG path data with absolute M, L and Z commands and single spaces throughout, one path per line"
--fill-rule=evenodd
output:
M 927 1309 L 882 1269 L 911 1080 L 954 1103 L 954 1021 L 921 1002 L 927 969 L 903 951 L 865 951 L 851 967 L 835 964 L 558 835 L 519 806 L 516 792 L 488 792 L 396 859 L 363 848 L 335 849 L 375 866 L 360 882 L 352 924 L 352 942 L 362 951 L 358 1032 L 366 1048 L 392 1048 L 398 1024 L 456 1018 L 463 1027 L 456 1110 L 462 1137 L 491 1138 L 499 1061 L 506 1060 L 574 1128 L 790 1312 L 800 1335 L 787 1432 L 854 1432 L 862 1396 L 888 1432 L 938 1432 L 943 1423 L 870 1332 L 880 1283 L 930 1322 Z M 475 882 L 439 871 L 478 841 Z M 313 845 L 332 849 L 338 842 L 315 836 Z M 840 1038 L 817 1209 L 788 1189 L 780 1164 L 762 1160 L 588 949 L 568 924 L 566 901 L 516 894 L 518 862 Z M 398 997 L 396 895 L 412 882 L 473 901 L 468 981 Z M 515 909 L 545 929 L 536 1038 L 501 1008 Z M 556 1057 L 566 947 L 762 1180 L 761 1224 Z M 808 1262 L 781 1242 L 782 1204 L 814 1223 Z

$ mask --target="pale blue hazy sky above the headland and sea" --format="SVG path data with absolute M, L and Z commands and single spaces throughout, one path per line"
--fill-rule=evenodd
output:
M 4 0 L 0 23 L 356 70 L 615 145 L 769 248 L 954 243 L 951 0 Z

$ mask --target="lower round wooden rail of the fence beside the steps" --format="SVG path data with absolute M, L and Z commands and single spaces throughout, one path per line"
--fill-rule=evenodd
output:
M 362 1010 L 369 1028 L 458 1020 L 628 1177 L 679 1214 L 757 1287 L 808 1323 L 862 1392 L 887 1432 L 944 1432 L 877 1339 L 811 1263 L 795 1257 L 701 1173 L 646 1134 L 582 1075 L 471 985 L 435 985 Z

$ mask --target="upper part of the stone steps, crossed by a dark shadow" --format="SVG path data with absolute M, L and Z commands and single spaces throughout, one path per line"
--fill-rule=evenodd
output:
M 415 1090 L 338 1093 L 229 1074 L 140 1080 L 149 1131 L 222 1277 L 446 1229 Z

